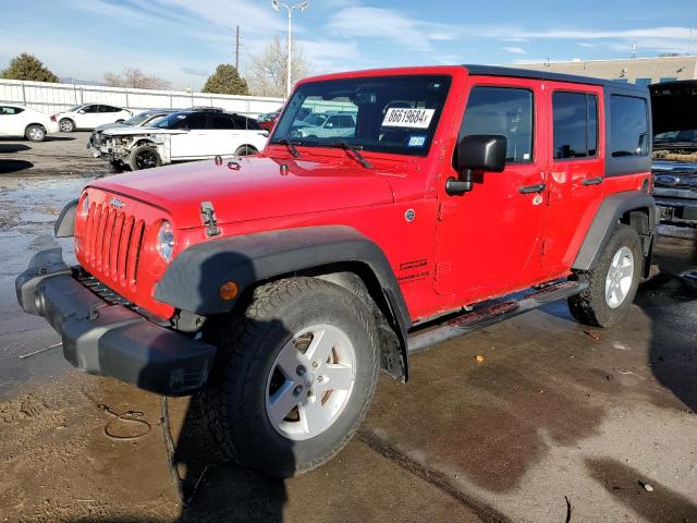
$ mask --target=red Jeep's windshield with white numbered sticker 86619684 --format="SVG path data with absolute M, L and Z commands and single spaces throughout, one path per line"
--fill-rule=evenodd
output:
M 270 143 L 426 156 L 450 76 L 378 76 L 301 85 Z

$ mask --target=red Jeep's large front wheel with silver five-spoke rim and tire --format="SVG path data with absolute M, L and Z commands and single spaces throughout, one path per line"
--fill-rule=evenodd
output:
M 204 417 L 241 465 L 276 477 L 310 471 L 357 430 L 377 384 L 368 307 L 323 280 L 291 278 L 254 291 L 243 316 L 209 329 L 219 361 Z

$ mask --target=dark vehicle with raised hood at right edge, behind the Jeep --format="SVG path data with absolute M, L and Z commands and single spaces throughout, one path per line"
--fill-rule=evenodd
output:
M 653 197 L 663 223 L 697 227 L 697 81 L 649 86 Z

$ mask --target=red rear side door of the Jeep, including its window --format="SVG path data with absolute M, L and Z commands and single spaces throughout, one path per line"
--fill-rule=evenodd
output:
M 550 102 L 550 158 L 542 266 L 571 266 L 602 200 L 602 87 L 547 83 Z

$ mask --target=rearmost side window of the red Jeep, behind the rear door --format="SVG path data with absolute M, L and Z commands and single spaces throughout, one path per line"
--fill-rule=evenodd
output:
M 649 154 L 646 99 L 633 96 L 610 97 L 610 137 L 613 158 Z

